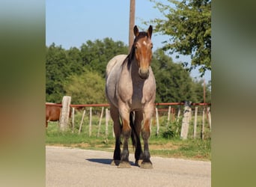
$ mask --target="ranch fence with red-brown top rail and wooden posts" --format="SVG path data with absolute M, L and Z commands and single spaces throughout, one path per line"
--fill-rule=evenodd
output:
M 64 96 L 65 97 L 65 96 Z M 93 120 L 93 109 L 94 114 L 100 116 L 98 119 L 97 125 L 97 137 L 100 136 L 100 129 L 102 126 L 103 116 L 105 112 L 105 123 L 106 123 L 106 132 L 105 135 L 109 135 L 109 122 L 112 123 L 110 114 L 109 114 L 109 104 L 88 104 L 88 105 L 73 105 L 70 104 L 70 98 L 65 98 L 62 101 L 62 104 L 56 103 L 49 103 L 46 102 L 46 105 L 56 105 L 61 106 L 62 111 L 60 115 L 60 129 L 65 130 L 67 129 L 67 119 L 64 119 L 64 113 L 68 117 L 69 109 L 72 108 L 72 115 L 71 115 L 71 128 L 72 132 L 74 132 L 75 126 L 75 110 L 82 112 L 82 118 L 79 122 L 79 130 L 78 133 L 82 131 L 82 126 L 85 120 L 86 109 L 89 108 L 89 124 L 88 124 L 88 135 L 91 136 L 92 131 L 92 120 Z M 211 113 L 210 113 L 210 103 L 189 103 L 189 102 L 166 102 L 166 103 L 156 103 L 156 112 L 153 116 L 153 120 L 151 120 L 151 126 L 156 126 L 156 136 L 159 136 L 160 126 L 163 129 L 170 129 L 172 127 L 172 133 L 176 133 L 180 135 L 180 138 L 186 139 L 189 135 L 189 129 L 192 135 L 192 138 L 198 138 L 198 133 L 200 134 L 200 138 L 205 138 L 205 128 L 206 122 L 208 124 L 207 129 L 211 131 Z M 101 108 L 101 110 L 100 110 Z M 99 115 L 100 113 L 100 115 Z M 200 117 L 199 117 L 200 116 Z M 64 124 L 62 123 L 64 121 Z M 181 123 L 181 125 L 180 125 Z M 176 124 L 176 126 L 174 126 Z M 66 127 L 65 127 L 66 126 Z M 198 132 L 198 127 L 200 127 L 200 131 Z M 95 127 L 94 127 L 95 128 Z M 173 129 L 176 128 L 176 129 Z M 114 132 L 112 131 L 112 135 Z M 208 135 L 209 136 L 209 135 Z

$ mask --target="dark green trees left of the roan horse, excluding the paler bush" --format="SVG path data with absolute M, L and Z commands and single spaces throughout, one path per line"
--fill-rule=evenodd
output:
M 55 46 L 55 43 L 46 46 L 46 101 L 61 102 L 62 97 L 69 91 L 64 85 L 67 86 L 70 81 L 82 76 L 85 69 L 97 73 L 97 76 L 103 79 L 108 61 L 115 55 L 127 54 L 127 51 L 128 47 L 123 42 L 114 42 L 111 38 L 94 42 L 88 40 L 82 44 L 81 50 L 76 47 L 66 50 L 61 46 Z M 87 83 L 88 85 L 84 85 L 85 88 L 91 86 L 90 82 Z M 105 84 L 101 81 L 100 83 Z M 100 101 L 103 99 L 96 102 Z

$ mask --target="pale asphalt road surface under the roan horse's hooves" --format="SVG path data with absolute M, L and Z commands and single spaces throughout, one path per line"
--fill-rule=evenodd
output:
M 46 146 L 46 186 L 211 186 L 211 162 L 151 156 L 153 169 L 110 165 L 112 153 Z

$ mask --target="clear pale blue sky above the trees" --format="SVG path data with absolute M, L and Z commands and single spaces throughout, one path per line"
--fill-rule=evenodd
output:
M 162 0 L 165 3 L 165 0 Z M 166 2 L 166 4 L 168 4 Z M 163 18 L 162 13 L 153 7 L 148 0 L 135 1 L 135 25 L 147 30 L 141 20 Z M 129 0 L 46 0 L 46 46 L 52 43 L 61 45 L 64 49 L 76 46 L 80 48 L 87 40 L 102 40 L 111 37 L 121 40 L 128 45 L 129 37 Z M 162 41 L 168 36 L 153 34 L 153 49 L 163 46 Z M 183 56 L 181 60 L 190 61 L 190 57 Z M 192 77 L 198 77 L 198 71 L 193 70 Z M 210 71 L 204 76 L 206 82 L 210 78 Z

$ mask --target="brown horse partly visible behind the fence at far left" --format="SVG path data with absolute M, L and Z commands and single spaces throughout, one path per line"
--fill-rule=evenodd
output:
M 58 103 L 61 104 L 61 103 Z M 59 121 L 61 116 L 61 106 L 58 105 L 46 105 L 46 128 L 49 121 Z M 71 111 L 69 117 L 71 117 Z

